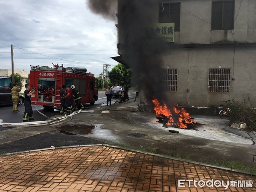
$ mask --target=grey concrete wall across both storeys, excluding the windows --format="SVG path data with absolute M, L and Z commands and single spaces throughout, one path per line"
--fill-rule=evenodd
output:
M 161 2 L 156 1 L 152 13 L 155 23 Z M 256 0 L 235 0 L 231 30 L 211 30 L 212 0 L 163 0 L 177 2 L 181 6 L 180 31 L 175 32 L 174 43 L 162 43 L 161 66 L 178 70 L 177 92 L 166 92 L 169 98 L 182 106 L 218 107 L 224 100 L 250 97 L 256 106 Z M 181 48 L 189 44 L 195 48 Z M 122 52 L 122 42 L 118 52 Z M 230 69 L 230 78 L 235 80 L 230 81 L 230 92 L 210 93 L 209 69 L 219 67 Z

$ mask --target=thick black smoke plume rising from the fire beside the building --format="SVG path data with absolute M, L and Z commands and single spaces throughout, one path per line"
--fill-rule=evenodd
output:
M 117 0 L 89 0 L 93 12 L 102 14 L 116 10 Z M 158 23 L 158 0 L 118 0 L 119 54 L 132 69 L 132 83 L 143 90 L 149 102 L 167 102 L 164 94 L 162 46 L 152 38 L 150 28 Z M 109 10 L 107 10 L 109 9 Z

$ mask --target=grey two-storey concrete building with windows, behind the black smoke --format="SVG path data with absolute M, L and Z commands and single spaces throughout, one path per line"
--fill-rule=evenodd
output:
M 256 106 L 255 0 L 131 0 L 129 5 L 118 0 L 117 18 L 120 57 L 113 59 L 140 70 L 137 65 L 143 58 L 131 55 L 160 57 L 153 64 L 163 69 L 165 94 L 172 102 L 216 107 L 221 101 L 250 97 Z M 173 31 L 168 30 L 170 23 Z M 174 39 L 147 44 L 148 26 L 157 35 Z M 137 29 L 146 32 L 140 36 Z M 141 51 L 143 46 L 134 48 L 137 44 L 147 45 L 148 55 Z M 144 70 L 140 73 L 143 76 Z

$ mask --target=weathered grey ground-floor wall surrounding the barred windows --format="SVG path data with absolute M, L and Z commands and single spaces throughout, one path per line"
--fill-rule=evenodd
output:
M 167 92 L 173 102 L 189 106 L 219 106 L 221 101 L 250 97 L 256 106 L 256 47 L 172 49 L 163 56 L 163 68 L 178 69 L 177 92 Z M 234 57 L 234 63 L 233 63 Z M 230 68 L 230 92 L 208 92 L 210 68 Z M 189 89 L 189 92 L 188 92 Z

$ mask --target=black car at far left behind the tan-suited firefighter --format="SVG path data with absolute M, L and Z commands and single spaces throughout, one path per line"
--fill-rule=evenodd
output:
M 24 96 L 20 94 L 19 105 L 22 105 L 24 102 Z M 11 89 L 8 87 L 0 87 L 0 105 L 12 105 L 12 93 Z

